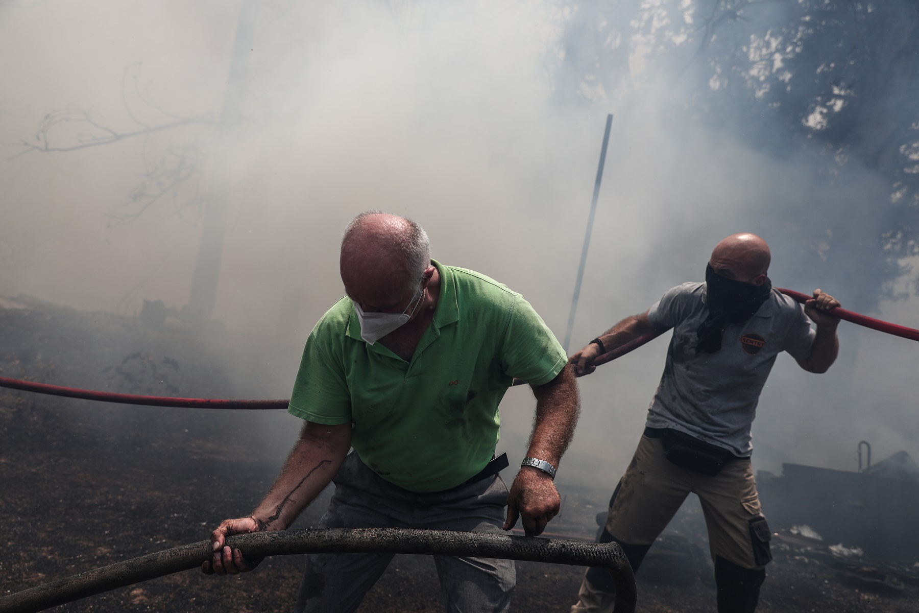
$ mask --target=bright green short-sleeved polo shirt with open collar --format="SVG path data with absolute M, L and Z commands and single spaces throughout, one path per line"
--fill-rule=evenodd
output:
M 413 492 L 446 490 L 481 471 L 494 456 L 511 380 L 548 383 L 567 361 L 523 296 L 432 264 L 440 298 L 412 360 L 364 342 L 345 297 L 312 329 L 288 409 L 318 424 L 352 423 L 360 459 Z

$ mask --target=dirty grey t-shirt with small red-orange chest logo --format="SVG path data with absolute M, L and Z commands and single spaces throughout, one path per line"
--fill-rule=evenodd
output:
M 672 327 L 674 336 L 647 425 L 674 428 L 749 456 L 750 426 L 776 356 L 788 351 L 795 359 L 807 358 L 815 333 L 800 304 L 773 289 L 753 317 L 728 325 L 720 350 L 697 354 L 698 326 L 709 315 L 705 287 L 684 283 L 669 289 L 648 311 L 652 326 Z

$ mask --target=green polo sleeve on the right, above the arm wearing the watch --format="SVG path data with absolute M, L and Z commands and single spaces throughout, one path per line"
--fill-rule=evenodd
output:
M 508 377 L 543 385 L 562 372 L 568 356 L 539 313 L 517 294 L 505 330 L 501 369 Z

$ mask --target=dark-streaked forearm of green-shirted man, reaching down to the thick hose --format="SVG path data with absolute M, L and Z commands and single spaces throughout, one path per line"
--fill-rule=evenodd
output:
M 287 528 L 332 481 L 351 446 L 350 428 L 303 427 L 278 479 L 252 512 L 260 531 Z

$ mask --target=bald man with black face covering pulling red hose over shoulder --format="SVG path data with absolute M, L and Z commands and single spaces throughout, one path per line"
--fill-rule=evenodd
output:
M 826 312 L 839 302 L 816 289 L 802 308 L 772 289 L 770 259 L 759 236 L 728 236 L 711 253 L 705 283 L 668 290 L 647 312 L 622 320 L 570 360 L 581 376 L 596 369 L 597 356 L 673 328 L 643 436 L 609 501 L 599 539 L 618 542 L 637 572 L 686 496 L 698 494 L 719 613 L 754 611 L 772 559 L 750 464 L 750 427 L 769 370 L 787 351 L 802 369 L 825 372 L 839 350 L 839 320 Z M 571 613 L 608 613 L 613 589 L 604 569 L 588 569 Z

